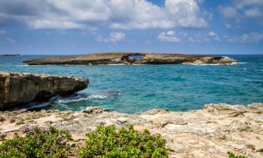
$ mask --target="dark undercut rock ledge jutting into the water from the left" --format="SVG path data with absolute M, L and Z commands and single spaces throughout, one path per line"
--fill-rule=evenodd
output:
M 0 108 L 68 95 L 88 86 L 88 79 L 48 74 L 0 72 Z

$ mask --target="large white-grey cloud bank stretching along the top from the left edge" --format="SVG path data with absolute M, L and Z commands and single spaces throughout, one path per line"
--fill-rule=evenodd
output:
M 25 24 L 34 29 L 203 28 L 200 0 L 12 0 L 0 1 L 0 25 Z

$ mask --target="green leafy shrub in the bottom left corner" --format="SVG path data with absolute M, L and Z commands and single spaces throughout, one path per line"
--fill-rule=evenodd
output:
M 16 136 L 13 140 L 5 140 L 0 145 L 0 157 L 67 157 L 70 150 L 67 140 L 72 140 L 68 131 L 54 127 L 49 127 L 47 131 L 35 128 L 25 137 Z

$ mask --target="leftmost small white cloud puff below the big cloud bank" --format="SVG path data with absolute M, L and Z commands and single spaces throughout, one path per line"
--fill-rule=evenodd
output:
M 123 32 L 112 32 L 109 34 L 109 37 L 102 37 L 100 34 L 95 34 L 96 36 L 96 41 L 100 42 L 112 42 L 112 43 L 118 43 L 118 42 L 123 42 L 126 41 L 126 34 Z

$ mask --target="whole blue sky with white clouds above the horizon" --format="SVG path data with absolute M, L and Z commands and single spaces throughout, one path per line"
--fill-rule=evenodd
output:
M 0 53 L 263 54 L 263 0 L 0 0 Z

